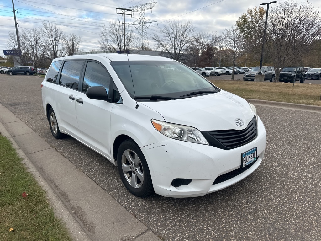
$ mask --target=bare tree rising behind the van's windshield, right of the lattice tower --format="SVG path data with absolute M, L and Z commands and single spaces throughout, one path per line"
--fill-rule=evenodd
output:
M 152 36 L 152 40 L 156 41 L 156 49 L 167 52 L 172 59 L 184 61 L 183 55 L 188 53 L 194 30 L 195 27 L 189 21 L 169 21 L 168 25 L 160 29 L 160 35 Z

